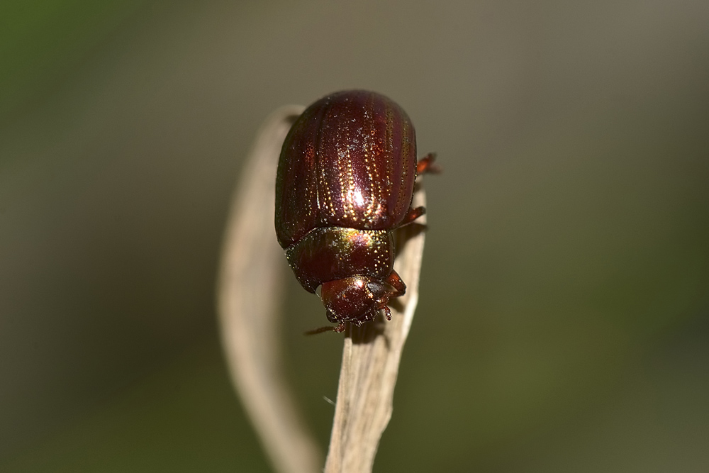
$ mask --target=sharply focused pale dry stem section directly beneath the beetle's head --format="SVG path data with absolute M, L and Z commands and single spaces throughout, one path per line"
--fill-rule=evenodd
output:
M 419 189 L 413 206 L 424 206 Z M 425 223 L 425 218 L 420 218 Z M 350 327 L 342 351 L 340 384 L 325 473 L 372 471 L 381 434 L 391 418 L 401 351 L 418 303 L 418 280 L 424 232 L 420 225 L 400 228 L 394 269 L 406 284 L 406 295 L 391 307 L 391 321 Z

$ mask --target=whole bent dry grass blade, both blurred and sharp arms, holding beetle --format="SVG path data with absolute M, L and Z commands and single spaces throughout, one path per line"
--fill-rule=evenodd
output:
M 217 294 L 232 381 L 280 473 L 322 471 L 320 452 L 281 375 L 277 340 L 284 255 L 274 235 L 274 184 L 281 144 L 302 111 L 301 106 L 280 108 L 259 130 L 230 211 Z M 425 196 L 419 189 L 414 206 L 421 205 Z M 391 418 L 401 350 L 418 301 L 422 228 L 414 224 L 397 230 L 394 267 L 408 287 L 406 295 L 393 302 L 391 321 L 347 328 L 327 473 L 372 471 L 379 439 Z

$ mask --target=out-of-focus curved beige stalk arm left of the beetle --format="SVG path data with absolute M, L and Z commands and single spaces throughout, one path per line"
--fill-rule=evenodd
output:
M 281 143 L 302 111 L 280 108 L 259 130 L 228 219 L 217 294 L 232 381 L 282 473 L 318 472 L 322 462 L 281 374 L 277 337 L 284 255 L 274 235 L 274 179 Z

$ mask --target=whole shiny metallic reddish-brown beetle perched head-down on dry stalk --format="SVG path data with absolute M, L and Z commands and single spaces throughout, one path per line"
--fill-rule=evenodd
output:
M 392 231 L 415 221 L 417 174 L 436 172 L 435 154 L 416 161 L 415 130 L 394 101 L 371 91 L 323 97 L 289 130 L 278 162 L 278 243 L 328 320 L 342 332 L 372 321 L 406 284 L 393 270 Z

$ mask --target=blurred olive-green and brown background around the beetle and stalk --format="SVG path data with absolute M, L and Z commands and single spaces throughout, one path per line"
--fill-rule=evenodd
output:
M 398 101 L 430 225 L 376 472 L 709 471 L 709 3 L 0 3 L 0 471 L 265 472 L 213 292 L 283 104 Z M 288 279 L 328 442 L 341 338 Z

